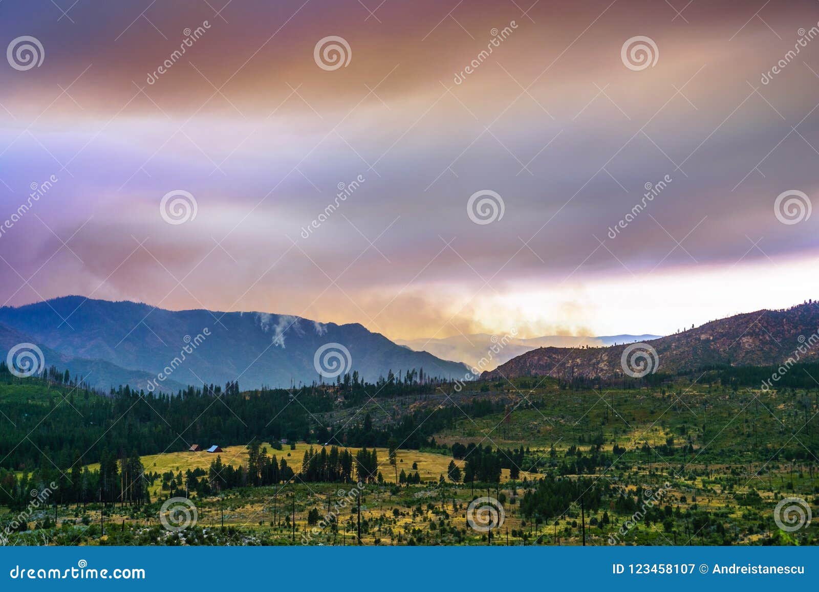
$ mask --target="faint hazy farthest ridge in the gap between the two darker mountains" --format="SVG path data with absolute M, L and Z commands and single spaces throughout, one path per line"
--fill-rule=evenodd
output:
M 428 351 L 430 354 L 441 359 L 457 360 L 464 362 L 473 368 L 483 370 L 494 370 L 500 364 L 508 362 L 510 359 L 518 357 L 527 351 L 536 350 L 538 347 L 580 347 L 580 346 L 613 346 L 616 343 L 634 343 L 635 341 L 649 341 L 657 339 L 659 335 L 609 335 L 605 337 L 570 337 L 563 335 L 549 335 L 545 337 L 533 337 L 531 339 L 519 339 L 509 337 L 504 339 L 503 335 L 489 335 L 488 333 L 473 333 L 470 335 L 456 335 L 442 339 L 396 339 L 396 343 L 407 346 L 415 351 Z M 505 341 L 503 348 L 497 353 L 492 353 L 489 359 L 488 352 L 499 341 Z M 488 363 L 479 365 L 484 359 Z

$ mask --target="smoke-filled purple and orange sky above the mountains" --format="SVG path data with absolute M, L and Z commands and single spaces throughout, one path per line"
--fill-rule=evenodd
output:
M 409 339 L 817 297 L 819 3 L 686 2 L 0 2 L 0 304 Z

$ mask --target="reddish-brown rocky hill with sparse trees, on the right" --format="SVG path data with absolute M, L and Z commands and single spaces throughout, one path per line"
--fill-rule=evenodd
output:
M 647 341 L 656 351 L 650 360 L 655 372 L 694 371 L 713 364 L 728 366 L 779 366 L 800 346 L 800 361 L 819 359 L 819 305 L 806 302 L 788 310 L 757 310 L 705 323 L 701 327 Z M 553 376 L 624 376 L 622 355 L 627 346 L 590 349 L 543 347 L 528 351 L 484 378 Z M 633 359 L 632 349 L 627 359 Z M 650 354 L 650 352 L 649 352 Z M 656 360 L 656 361 L 655 361 Z M 636 363 L 640 359 L 634 359 Z M 648 359 L 643 361 L 649 361 Z M 628 368 L 639 369 L 635 364 Z

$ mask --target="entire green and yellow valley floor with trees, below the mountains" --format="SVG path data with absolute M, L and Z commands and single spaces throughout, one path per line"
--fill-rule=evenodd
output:
M 816 520 L 790 531 L 775 519 L 783 499 L 817 514 L 819 385 L 762 391 L 748 384 L 757 373 L 711 368 L 605 386 L 402 385 L 353 406 L 343 382 L 102 397 L 3 369 L 9 544 L 819 543 Z M 82 435 L 50 446 L 66 413 L 72 433 L 106 432 L 88 451 Z M 27 432 L 43 454 L 14 450 Z M 32 490 L 48 490 L 35 508 Z

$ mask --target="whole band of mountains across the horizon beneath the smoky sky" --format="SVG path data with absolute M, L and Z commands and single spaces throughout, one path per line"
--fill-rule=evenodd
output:
M 656 359 L 649 360 L 654 371 L 672 373 L 715 364 L 779 365 L 799 346 L 807 347 L 801 359 L 816 360 L 817 330 L 819 305 L 810 302 L 788 310 L 738 314 L 667 337 L 505 339 L 473 334 L 393 342 L 357 323 L 317 323 L 258 312 L 170 311 L 136 302 L 66 296 L 0 308 L 0 359 L 20 343 L 34 343 L 43 351 L 46 366 L 68 369 L 97 388 L 129 384 L 165 392 L 234 380 L 242 388 L 290 386 L 291 381 L 298 386 L 319 380 L 319 370 L 327 382 L 337 368 L 327 364 L 333 362 L 334 352 L 341 352 L 334 361 L 350 372 L 357 370 L 369 382 L 390 370 L 411 368 L 423 368 L 428 376 L 464 377 L 468 367 L 451 360 L 486 368 L 485 378 L 533 374 L 612 378 L 624 375 L 622 356 L 627 348 L 628 359 L 639 354 L 640 349 L 633 348 L 636 342 L 645 342 L 656 352 Z M 507 342 L 500 347 L 503 341 Z M 489 363 L 481 365 L 480 359 Z M 639 357 L 635 361 L 640 362 Z M 165 375 L 162 380 L 157 378 L 160 373 Z

